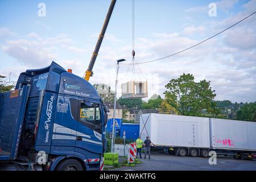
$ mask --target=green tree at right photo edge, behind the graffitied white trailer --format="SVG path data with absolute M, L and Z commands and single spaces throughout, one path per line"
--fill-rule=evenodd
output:
M 256 122 L 256 102 L 243 104 L 237 111 L 237 119 L 241 121 Z

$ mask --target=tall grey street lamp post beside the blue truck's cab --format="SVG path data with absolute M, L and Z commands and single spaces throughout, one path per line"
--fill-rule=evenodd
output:
M 114 153 L 114 143 L 115 143 L 115 107 L 116 107 L 116 102 L 117 102 L 118 69 L 119 69 L 119 63 L 122 61 L 125 61 L 125 59 L 117 60 L 117 76 L 115 79 L 114 112 L 113 112 L 112 141 L 111 141 L 111 152 L 112 153 Z

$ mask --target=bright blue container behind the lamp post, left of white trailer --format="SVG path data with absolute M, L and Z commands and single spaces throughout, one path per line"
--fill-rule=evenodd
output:
M 136 140 L 139 137 L 139 124 L 123 123 L 122 119 L 115 119 L 115 137 L 123 137 L 123 131 L 125 131 L 126 139 Z M 108 119 L 106 126 L 106 132 L 112 133 L 113 119 Z

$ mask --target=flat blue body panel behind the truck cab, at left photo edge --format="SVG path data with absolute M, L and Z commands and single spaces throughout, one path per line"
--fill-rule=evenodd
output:
M 24 85 L 0 97 L 0 160 L 14 160 L 18 154 L 29 90 Z

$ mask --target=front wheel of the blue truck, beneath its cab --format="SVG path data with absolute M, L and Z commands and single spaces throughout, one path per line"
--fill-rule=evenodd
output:
M 56 171 L 82 171 L 82 164 L 76 159 L 66 159 L 56 167 Z

